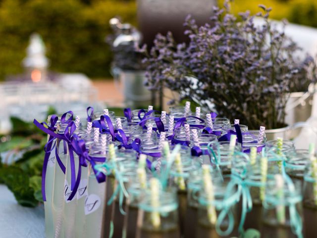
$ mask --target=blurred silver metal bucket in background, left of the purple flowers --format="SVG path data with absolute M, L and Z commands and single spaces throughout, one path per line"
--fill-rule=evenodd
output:
M 151 104 L 151 91 L 144 86 L 145 71 L 121 71 L 115 82 L 124 96 L 127 107 L 135 108 Z

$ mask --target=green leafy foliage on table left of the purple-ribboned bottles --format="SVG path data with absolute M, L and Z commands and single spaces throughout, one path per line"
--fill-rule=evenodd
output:
M 41 193 L 44 145 L 47 136 L 31 122 L 11 118 L 13 131 L 10 136 L 2 136 L 0 154 L 22 152 L 22 157 L 12 164 L 6 164 L 7 158 L 0 158 L 0 182 L 13 192 L 22 206 L 35 207 L 43 201 Z

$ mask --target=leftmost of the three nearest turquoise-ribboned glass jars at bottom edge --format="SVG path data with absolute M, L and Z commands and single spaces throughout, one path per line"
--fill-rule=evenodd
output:
M 137 237 L 179 237 L 176 190 L 159 190 L 159 204 L 156 204 L 156 206 L 153 205 L 152 200 L 152 193 L 147 191 L 139 203 Z M 159 216 L 158 226 L 153 223 L 154 213 Z

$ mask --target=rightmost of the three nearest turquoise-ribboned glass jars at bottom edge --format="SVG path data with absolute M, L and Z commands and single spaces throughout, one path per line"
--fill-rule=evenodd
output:
M 263 202 L 264 238 L 303 237 L 301 187 L 282 175 L 267 176 Z

